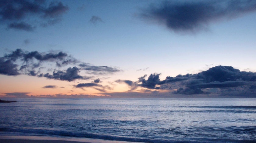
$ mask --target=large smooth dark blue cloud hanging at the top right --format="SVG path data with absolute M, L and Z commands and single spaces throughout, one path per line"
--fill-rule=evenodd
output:
M 197 32 L 216 20 L 236 18 L 256 10 L 252 0 L 164 1 L 151 4 L 140 16 L 175 32 Z

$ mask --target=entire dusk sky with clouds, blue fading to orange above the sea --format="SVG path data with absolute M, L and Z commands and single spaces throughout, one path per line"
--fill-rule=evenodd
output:
M 255 0 L 0 0 L 0 97 L 255 97 Z

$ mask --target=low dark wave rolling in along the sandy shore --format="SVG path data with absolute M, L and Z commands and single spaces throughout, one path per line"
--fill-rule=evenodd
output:
M 241 131 L 250 131 L 252 134 L 255 131 L 251 129 L 241 129 Z M 18 133 L 29 133 L 33 135 L 56 135 L 62 137 L 76 137 L 76 138 L 91 138 L 91 139 L 102 139 L 111 141 L 129 141 L 129 142 L 144 142 L 144 143 L 254 143 L 256 140 L 235 140 L 235 139 L 213 139 L 213 138 L 174 138 L 173 140 L 164 139 L 147 139 L 147 138 L 133 138 L 133 137 L 122 137 L 115 135 L 98 135 L 92 133 L 72 132 L 72 131 L 57 131 L 49 129 L 38 129 L 38 128 L 0 128 L 0 132 L 18 132 Z

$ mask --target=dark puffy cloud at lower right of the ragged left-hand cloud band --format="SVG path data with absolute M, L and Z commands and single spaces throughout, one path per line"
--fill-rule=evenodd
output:
M 74 81 L 76 79 L 89 79 L 83 76 L 78 75 L 80 69 L 77 67 L 69 67 L 66 71 L 54 71 L 52 75 L 40 74 L 39 77 L 45 77 L 49 79 L 63 80 L 63 81 Z

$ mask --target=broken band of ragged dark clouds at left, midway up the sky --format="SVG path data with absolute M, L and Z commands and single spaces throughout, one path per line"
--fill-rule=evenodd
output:
M 56 66 L 53 66 L 52 64 L 55 63 Z M 67 66 L 69 67 L 67 68 Z M 41 70 L 47 70 L 47 72 L 42 72 Z M 108 66 L 95 66 L 80 62 L 65 52 L 51 51 L 41 53 L 16 49 L 10 54 L 0 57 L 0 74 L 2 75 L 30 75 L 69 82 L 76 79 L 86 80 L 91 78 L 90 76 L 79 75 L 80 71 L 86 71 L 90 75 L 106 75 L 120 70 Z M 99 83 L 101 81 L 96 79 L 93 82 Z

